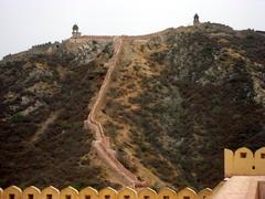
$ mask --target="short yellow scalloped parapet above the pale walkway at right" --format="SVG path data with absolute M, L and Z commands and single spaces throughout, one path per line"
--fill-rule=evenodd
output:
M 246 147 L 224 149 L 224 176 L 265 176 L 265 147 L 255 153 Z

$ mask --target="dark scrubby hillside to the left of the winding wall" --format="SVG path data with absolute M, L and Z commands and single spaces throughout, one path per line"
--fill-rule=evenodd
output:
M 1 187 L 109 185 L 83 121 L 112 55 L 112 42 L 87 42 L 1 62 Z

